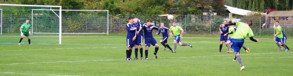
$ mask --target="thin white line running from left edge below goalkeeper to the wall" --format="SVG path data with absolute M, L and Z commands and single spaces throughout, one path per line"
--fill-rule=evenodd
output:
M 0 51 L 34 51 L 34 50 L 88 49 L 88 48 L 121 48 L 121 47 L 77 47 L 77 48 L 50 48 L 50 49 L 27 49 L 27 50 L 0 50 Z

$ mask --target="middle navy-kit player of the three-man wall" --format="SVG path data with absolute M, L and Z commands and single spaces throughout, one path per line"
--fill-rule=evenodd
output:
M 135 17 L 134 19 L 134 23 L 136 24 L 136 30 L 137 30 L 137 33 L 136 33 L 136 39 L 134 40 L 134 43 L 135 43 L 135 46 L 134 46 L 134 53 L 135 53 L 135 59 L 134 60 L 137 60 L 138 59 L 138 46 L 139 46 L 139 52 L 141 54 L 141 60 L 143 60 L 143 47 L 142 47 L 142 44 L 143 44 L 143 39 L 144 39 L 144 33 L 143 33 L 143 21 L 141 21 L 140 19 L 138 19 L 137 17 Z

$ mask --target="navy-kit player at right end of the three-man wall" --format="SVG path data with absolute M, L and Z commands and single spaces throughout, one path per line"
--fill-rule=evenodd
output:
M 159 45 L 156 41 L 156 39 L 152 36 L 152 30 L 159 30 L 159 28 L 155 27 L 154 25 L 151 24 L 151 19 L 148 19 L 147 20 L 147 23 L 144 24 L 144 35 L 145 35 L 145 45 L 146 45 L 146 50 L 145 50 L 145 54 L 146 54 L 146 60 L 148 60 L 148 57 L 147 57 L 147 54 L 148 54 L 148 47 L 150 47 L 150 45 L 152 46 L 156 46 L 155 47 L 155 52 L 154 52 L 154 55 L 155 55 L 155 58 L 157 58 L 157 53 L 158 53 L 158 50 L 159 50 Z

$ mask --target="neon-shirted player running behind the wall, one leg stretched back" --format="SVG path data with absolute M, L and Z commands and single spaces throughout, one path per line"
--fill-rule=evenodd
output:
M 176 52 L 176 47 L 177 47 L 176 42 L 179 44 L 179 46 L 190 46 L 190 47 L 192 47 L 189 43 L 184 44 L 184 43 L 181 43 L 181 41 L 180 41 L 180 38 L 183 38 L 182 35 L 183 35 L 184 30 L 181 27 L 176 26 L 176 22 L 172 22 L 172 25 L 173 26 L 171 26 L 171 28 L 169 30 L 170 31 L 169 34 L 170 34 L 171 37 L 173 37 L 173 36 L 175 37 L 175 39 L 173 41 L 175 50 L 173 50 L 171 52 L 173 52 L 173 53 Z M 181 33 L 180 33 L 180 31 L 181 31 Z

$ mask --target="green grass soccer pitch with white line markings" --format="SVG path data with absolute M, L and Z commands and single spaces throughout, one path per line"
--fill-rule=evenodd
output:
M 159 44 L 158 59 L 151 46 L 149 60 L 132 61 L 125 60 L 126 37 L 62 37 L 63 45 L 58 37 L 31 37 L 31 45 L 24 38 L 18 46 L 19 39 L 0 37 L 0 76 L 293 76 L 293 52 L 284 47 L 278 52 L 272 39 L 246 39 L 244 45 L 251 52 L 241 49 L 243 71 L 226 46 L 218 53 L 218 38 L 184 38 L 182 42 L 193 48 L 177 46 L 177 53 L 164 51 Z M 157 42 L 160 39 L 156 37 Z M 174 48 L 172 41 L 168 39 Z M 287 40 L 289 47 L 292 43 Z

